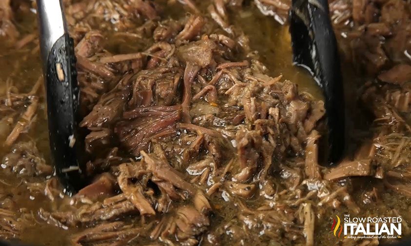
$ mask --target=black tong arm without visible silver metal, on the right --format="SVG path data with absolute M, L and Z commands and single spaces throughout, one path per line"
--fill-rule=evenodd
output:
M 328 124 L 328 164 L 344 152 L 345 107 L 337 42 L 327 0 L 293 0 L 290 11 L 293 62 L 307 68 L 323 89 Z

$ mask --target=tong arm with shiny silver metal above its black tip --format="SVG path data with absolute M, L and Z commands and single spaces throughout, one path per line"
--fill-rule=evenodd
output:
M 85 183 L 74 44 L 61 0 L 37 0 L 37 7 L 50 148 L 60 182 L 71 195 Z

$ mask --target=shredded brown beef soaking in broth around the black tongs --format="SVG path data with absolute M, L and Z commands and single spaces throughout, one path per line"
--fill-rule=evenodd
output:
M 285 80 L 297 78 L 289 71 L 270 71 L 273 64 L 259 58 L 271 53 L 255 52 L 259 38 L 238 25 L 257 9 L 284 24 L 291 1 L 178 0 L 188 15 L 172 0 L 63 2 L 77 44 L 90 183 L 64 195 L 53 168 L 26 140 L 30 130 L 43 129 L 33 126 L 43 110 L 41 79 L 28 94 L 7 81 L 1 167 L 17 173 L 22 196 L 47 201 L 32 209 L 33 225 L 41 219 L 67 229 L 76 246 L 313 246 L 331 212 L 385 216 L 387 197 L 410 196 L 408 2 L 330 2 L 343 59 L 353 73 L 369 76 L 352 102 L 358 98 L 371 112 L 361 112 L 364 128 L 371 124 L 367 142 L 358 137 L 359 151 L 332 167 L 321 166 L 324 102 Z M 18 33 L 9 7 L 0 0 L 0 34 L 12 40 Z M 275 35 L 287 40 L 282 31 Z M 16 46 L 31 43 L 34 35 Z M 357 189 L 361 177 L 372 179 Z M 4 192 L 7 182 L 0 180 L 0 237 L 20 237 L 28 225 L 21 215 L 29 213 Z

